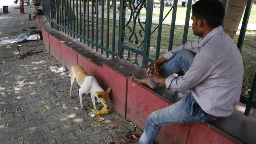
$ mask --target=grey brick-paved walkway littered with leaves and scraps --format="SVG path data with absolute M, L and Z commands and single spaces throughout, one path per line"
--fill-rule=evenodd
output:
M 33 10 L 33 7 L 30 9 Z M 9 11 L 14 12 L 11 8 Z M 21 16 L 28 21 L 26 15 Z M 8 14 L 4 17 L 9 22 L 16 19 L 8 17 Z M 12 29 L 14 26 L 15 23 L 10 23 L 9 28 L 1 27 L 0 31 L 9 32 L 4 36 L 23 33 Z M 35 46 L 35 41 L 26 42 L 19 46 L 19 50 L 25 53 Z M 134 128 L 118 113 L 111 110 L 110 114 L 102 115 L 106 120 L 97 122 L 88 115 L 93 109 L 90 96 L 84 96 L 86 110 L 80 108 L 76 90 L 73 91 L 74 98 L 69 98 L 69 72 L 54 72 L 61 66 L 44 49 L 42 40 L 38 41 L 36 50 L 30 56 L 0 65 L 0 144 L 127 142 L 123 134 L 134 131 Z M 26 81 L 18 82 L 20 80 Z M 102 107 L 102 104 L 97 106 Z

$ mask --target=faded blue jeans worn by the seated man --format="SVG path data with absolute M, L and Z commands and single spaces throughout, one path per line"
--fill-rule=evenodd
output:
M 162 74 L 168 77 L 170 74 L 183 70 L 188 71 L 194 59 L 194 54 L 189 50 L 181 50 L 169 62 L 162 66 Z M 158 84 L 150 80 L 155 86 Z M 178 102 L 152 112 L 146 121 L 144 133 L 138 140 L 138 144 L 152 144 L 158 135 L 161 126 L 169 124 L 181 124 L 186 122 L 208 122 L 216 120 L 197 104 L 192 94 L 182 98 Z

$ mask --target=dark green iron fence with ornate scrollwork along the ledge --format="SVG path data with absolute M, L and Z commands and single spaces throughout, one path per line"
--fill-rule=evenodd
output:
M 187 42 L 190 11 L 193 1 L 188 0 L 182 44 Z M 101 3 L 101 6 L 99 6 L 99 3 Z M 119 10 L 116 10 L 116 0 L 113 0 L 113 8 L 111 10 L 110 0 L 106 1 L 106 6 L 104 6 L 103 0 L 41 0 L 41 4 L 52 28 L 60 30 L 74 39 L 76 38 L 76 40 L 83 42 L 97 52 L 100 49 L 100 53 L 106 54 L 107 58 L 109 56 L 111 58 L 119 57 L 142 68 L 146 67 L 149 62 L 157 60 L 160 54 L 163 53 L 161 50 L 163 21 L 172 11 L 169 41 L 168 46 L 166 46 L 168 51 L 172 50 L 178 0 L 173 1 L 173 6 L 165 17 L 164 0 L 160 1 L 158 26 L 155 28 L 152 27 L 153 0 L 120 0 Z M 223 0 L 223 4 L 226 11 L 228 0 Z M 237 44 L 240 52 L 251 7 L 252 0 L 247 0 Z M 146 16 L 140 16 L 145 9 Z M 119 17 L 119 20 L 116 20 L 116 17 Z M 224 22 L 222 26 L 224 26 Z M 156 39 L 156 46 L 152 52 L 151 34 L 156 29 L 158 29 L 157 38 L 154 38 Z M 256 108 L 255 95 L 256 77 L 254 77 L 249 98 L 242 95 L 240 97 L 240 102 L 246 104 L 246 111 L 244 113 L 246 116 L 250 114 L 251 108 Z

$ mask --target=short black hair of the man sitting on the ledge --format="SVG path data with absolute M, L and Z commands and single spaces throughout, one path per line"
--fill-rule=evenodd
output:
M 222 24 L 225 10 L 219 0 L 199 0 L 192 5 L 192 14 L 196 20 L 203 18 L 210 28 L 216 28 Z

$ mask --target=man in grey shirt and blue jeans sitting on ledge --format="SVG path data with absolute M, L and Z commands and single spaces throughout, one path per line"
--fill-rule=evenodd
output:
M 218 0 L 193 4 L 192 28 L 200 38 L 152 62 L 145 68 L 149 78 L 134 78 L 152 89 L 162 84 L 172 91 L 190 90 L 180 101 L 148 116 L 138 144 L 152 144 L 164 125 L 208 122 L 233 113 L 242 88 L 243 61 L 236 44 L 222 29 L 223 18 L 224 7 Z M 184 76 L 170 76 L 181 69 Z

